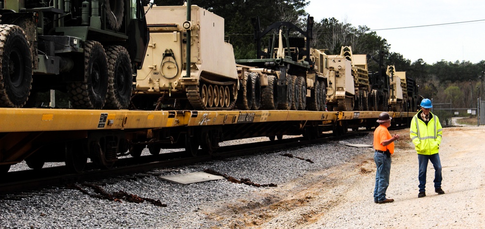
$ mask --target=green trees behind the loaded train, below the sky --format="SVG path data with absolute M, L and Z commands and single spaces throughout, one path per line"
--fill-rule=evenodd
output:
M 184 0 L 155 0 L 156 5 L 182 5 Z M 290 21 L 305 30 L 309 0 L 192 0 L 225 19 L 225 32 L 234 47 L 236 59 L 256 58 L 254 27 L 251 19 L 259 17 L 261 29 L 277 21 Z M 341 46 L 352 46 L 355 54 L 369 54 L 378 59 L 384 51 L 384 65 L 394 65 L 397 71 L 416 80 L 419 94 L 435 101 L 452 103 L 453 107 L 476 107 L 472 101 L 485 97 L 485 61 L 437 61 L 426 63 L 422 59 L 411 61 L 391 52 L 391 44 L 370 31 L 365 25 L 354 26 L 336 18 L 323 18 L 314 22 L 311 46 L 325 49 L 328 55 L 339 54 Z M 369 71 L 378 71 L 375 61 L 369 60 Z

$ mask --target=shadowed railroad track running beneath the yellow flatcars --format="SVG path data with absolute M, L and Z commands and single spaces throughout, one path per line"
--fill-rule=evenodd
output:
M 74 183 L 102 184 L 121 180 L 136 180 L 153 175 L 159 176 L 172 171 L 166 170 L 165 168 L 196 164 L 210 160 L 221 160 L 229 157 L 299 148 L 359 135 L 367 135 L 368 133 L 369 131 L 352 131 L 339 137 L 328 134 L 323 138 L 313 140 L 307 140 L 304 137 L 295 137 L 276 141 L 229 145 L 220 147 L 217 153 L 196 157 L 179 158 L 179 155 L 182 153 L 176 152 L 147 155 L 137 158 L 121 158 L 111 169 L 97 169 L 94 163 L 88 163 L 87 171 L 80 174 L 66 174 L 65 166 L 13 171 L 8 172 L 7 176 L 0 181 L 0 198 L 16 198 L 16 196 L 18 198 L 24 198 L 29 195 L 43 195 L 46 192 L 56 192 L 60 189 L 72 188 L 69 185 Z

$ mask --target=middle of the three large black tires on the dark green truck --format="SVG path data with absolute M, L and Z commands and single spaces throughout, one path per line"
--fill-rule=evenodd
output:
M 103 46 L 96 41 L 84 45 L 86 82 L 69 84 L 67 91 L 73 108 L 101 109 L 108 95 L 108 59 Z

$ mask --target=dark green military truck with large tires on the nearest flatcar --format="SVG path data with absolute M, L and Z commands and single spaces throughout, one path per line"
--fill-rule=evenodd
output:
M 2 5 L 1 107 L 32 107 L 37 92 L 58 90 L 74 108 L 128 108 L 148 41 L 141 0 Z

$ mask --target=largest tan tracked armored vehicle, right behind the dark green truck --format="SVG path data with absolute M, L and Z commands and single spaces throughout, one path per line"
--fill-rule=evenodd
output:
M 232 45 L 224 41 L 224 18 L 193 5 L 188 22 L 186 12 L 186 6 L 153 6 L 146 14 L 150 41 L 133 99 L 143 94 L 138 98 L 146 101 L 147 109 L 167 106 L 162 101 L 175 106 L 176 100 L 181 101 L 180 108 L 188 101 L 194 109 L 232 109 L 238 73 Z M 191 44 L 190 76 L 186 74 L 187 42 Z

